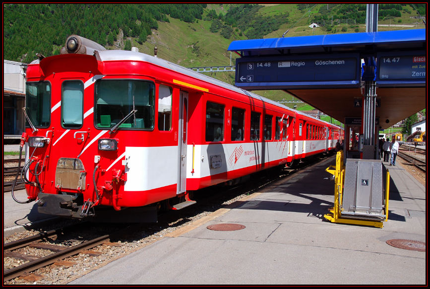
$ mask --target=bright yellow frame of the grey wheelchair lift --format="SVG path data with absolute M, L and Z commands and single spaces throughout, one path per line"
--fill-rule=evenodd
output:
M 390 172 L 387 170 L 386 184 L 385 184 L 385 219 L 381 220 L 367 220 L 354 217 L 342 217 L 343 201 L 343 190 L 344 190 L 344 177 L 345 177 L 345 166 L 344 166 L 344 155 L 343 151 L 338 151 L 336 154 L 336 166 L 330 166 L 326 169 L 327 172 L 334 175 L 335 189 L 334 189 L 334 207 L 330 208 L 329 214 L 324 215 L 327 220 L 334 223 L 346 223 L 356 225 L 374 226 L 377 228 L 383 227 L 383 221 L 388 220 L 388 197 L 389 197 L 389 186 L 390 186 Z

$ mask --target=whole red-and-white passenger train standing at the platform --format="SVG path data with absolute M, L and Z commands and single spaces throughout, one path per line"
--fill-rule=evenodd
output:
M 40 213 L 83 218 L 168 200 L 179 209 L 189 191 L 342 138 L 340 127 L 156 57 L 76 35 L 61 53 L 27 70 L 22 178 Z

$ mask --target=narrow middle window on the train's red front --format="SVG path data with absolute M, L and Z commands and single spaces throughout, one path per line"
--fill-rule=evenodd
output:
M 82 127 L 84 119 L 84 84 L 67 80 L 61 85 L 61 126 L 67 129 Z

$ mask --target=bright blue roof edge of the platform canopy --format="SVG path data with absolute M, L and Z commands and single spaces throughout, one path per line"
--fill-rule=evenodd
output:
M 228 50 L 243 56 L 318 52 L 375 52 L 393 49 L 426 49 L 426 29 L 345 33 L 233 41 Z

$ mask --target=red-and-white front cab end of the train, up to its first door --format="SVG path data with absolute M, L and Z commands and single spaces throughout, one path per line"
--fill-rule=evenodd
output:
M 26 189 L 40 213 L 79 218 L 96 205 L 121 210 L 186 191 L 186 92 L 97 65 L 72 55 L 29 67 Z

